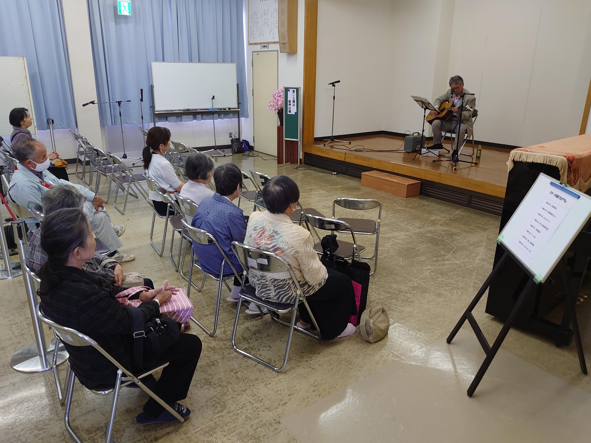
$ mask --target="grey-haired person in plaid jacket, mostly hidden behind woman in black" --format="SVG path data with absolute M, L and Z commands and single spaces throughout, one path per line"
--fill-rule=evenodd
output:
M 64 208 L 83 209 L 86 197 L 73 186 L 57 186 L 48 190 L 41 196 L 44 216 Z M 47 254 L 41 249 L 41 228 L 35 229 L 28 243 L 27 266 L 35 273 L 39 273 L 41 266 L 47 261 Z M 154 289 L 154 284 L 149 278 L 139 280 L 138 273 L 123 273 L 121 264 L 112 257 L 95 253 L 95 255 L 82 265 L 82 269 L 97 277 L 102 284 L 139 286 L 144 285 Z

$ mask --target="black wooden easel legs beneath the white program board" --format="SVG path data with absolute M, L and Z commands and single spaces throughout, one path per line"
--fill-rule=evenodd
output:
M 489 366 L 491 366 L 492 360 L 495 358 L 496 353 L 498 352 L 499 348 L 501 348 L 501 344 L 503 343 L 503 341 L 505 340 L 505 337 L 509 333 L 509 330 L 511 329 L 513 321 L 515 320 L 515 318 L 519 314 L 519 311 L 521 311 L 521 308 L 523 307 L 528 294 L 530 294 L 531 289 L 534 286 L 538 285 L 538 283 L 534 280 L 534 275 L 532 275 L 530 270 L 527 269 L 525 266 L 522 266 L 521 262 L 519 262 L 519 260 L 517 258 L 515 258 L 509 250 L 506 249 L 506 247 L 503 243 L 501 243 L 501 247 L 503 247 L 503 249 L 505 250 L 505 253 L 502 255 L 501 260 L 499 260 L 498 263 L 496 263 L 496 266 L 492 269 L 492 272 L 486 278 L 485 282 L 482 284 L 482 287 L 480 287 L 479 291 L 476 293 L 475 297 L 472 299 L 472 301 L 470 302 L 470 304 L 466 308 L 466 311 L 464 311 L 464 313 L 462 314 L 462 317 L 460 317 L 460 320 L 457 322 L 456 326 L 453 328 L 452 332 L 449 334 L 449 336 L 447 337 L 447 340 L 446 340 L 447 343 L 452 343 L 453 338 L 456 336 L 457 332 L 460 330 L 462 325 L 467 320 L 468 323 L 470 324 L 470 326 L 472 327 L 472 330 L 474 331 L 476 338 L 478 338 L 480 346 L 482 346 L 482 349 L 484 350 L 484 352 L 486 354 L 485 360 L 480 365 L 480 368 L 478 369 L 476 376 L 472 380 L 472 383 L 470 384 L 470 387 L 467 390 L 467 394 L 469 397 L 472 397 L 473 393 L 475 392 L 476 388 L 478 387 L 478 385 L 480 383 L 480 380 L 482 380 L 482 377 L 486 373 L 486 370 L 488 369 Z M 519 297 L 517 298 L 517 301 L 515 302 L 513 309 L 509 313 L 509 316 L 508 316 L 507 320 L 505 321 L 505 324 L 501 328 L 501 332 L 499 333 L 499 335 L 497 335 L 495 342 L 491 346 L 488 343 L 488 340 L 486 340 L 486 337 L 483 334 L 482 330 L 480 329 L 480 326 L 478 325 L 478 323 L 476 323 L 476 319 L 472 315 L 472 310 L 476 307 L 476 305 L 478 304 L 478 302 L 480 301 L 480 299 L 482 298 L 482 296 L 486 292 L 486 289 L 488 289 L 488 287 L 491 285 L 492 279 L 499 272 L 502 265 L 504 265 L 505 261 L 509 257 L 514 258 L 515 262 L 518 263 L 519 266 L 521 266 L 521 268 L 524 270 L 524 272 L 527 275 L 526 277 L 524 277 L 524 278 L 527 278 L 527 283 L 525 284 L 521 293 L 519 293 Z M 571 298 L 571 294 L 569 294 L 569 298 Z M 572 299 L 570 299 L 570 300 L 567 300 L 567 302 L 569 302 L 568 304 L 571 307 L 573 333 L 574 333 L 574 339 L 577 343 L 577 352 L 579 352 L 579 362 L 580 362 L 580 366 L 581 366 L 581 371 L 583 372 L 583 374 L 587 374 L 587 367 L 585 366 L 585 363 L 584 363 L 584 354 L 583 354 L 583 347 L 581 345 L 581 337 L 580 337 L 580 333 L 579 333 L 579 327 L 578 327 L 577 320 L 576 320 L 576 312 L 574 312 L 574 301 Z

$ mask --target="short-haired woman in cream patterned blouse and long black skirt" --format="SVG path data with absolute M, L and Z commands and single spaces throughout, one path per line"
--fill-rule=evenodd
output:
M 245 245 L 268 250 L 281 256 L 294 271 L 324 340 L 346 337 L 355 332 L 349 323 L 356 314 L 355 294 L 349 276 L 327 269 L 314 250 L 310 232 L 291 222 L 300 190 L 291 178 L 278 175 L 262 188 L 264 212 L 254 212 L 248 220 Z M 293 303 L 296 285 L 290 278 L 249 269 L 248 279 L 262 299 Z M 307 321 L 306 321 L 307 320 Z M 310 328 L 310 316 L 300 307 L 298 326 Z

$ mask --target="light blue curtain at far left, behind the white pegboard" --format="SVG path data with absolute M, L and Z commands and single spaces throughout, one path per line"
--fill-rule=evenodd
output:
M 0 56 L 27 57 L 37 129 L 76 128 L 60 0 L 1 0 Z M 14 103 L 18 108 L 22 103 Z M 0 116 L 8 119 L 8 115 Z

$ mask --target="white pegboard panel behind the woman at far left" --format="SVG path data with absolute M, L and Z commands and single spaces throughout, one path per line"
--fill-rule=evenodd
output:
M 8 115 L 14 108 L 27 108 L 33 125 L 29 131 L 37 138 L 37 123 L 35 110 L 33 108 L 33 96 L 31 95 L 31 84 L 27 70 L 27 59 L 25 57 L 0 57 L 0 135 L 9 136 L 12 133 L 12 126 L 8 121 Z M 10 144 L 10 138 L 6 139 Z

